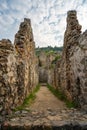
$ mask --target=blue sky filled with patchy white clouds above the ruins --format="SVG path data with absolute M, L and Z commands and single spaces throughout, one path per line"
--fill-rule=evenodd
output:
M 0 0 L 0 39 L 14 42 L 20 22 L 30 18 L 36 46 L 62 46 L 68 10 L 87 29 L 87 0 Z

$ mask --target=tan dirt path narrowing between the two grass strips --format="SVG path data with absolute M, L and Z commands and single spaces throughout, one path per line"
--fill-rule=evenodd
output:
M 30 106 L 31 110 L 63 109 L 65 104 L 58 100 L 46 86 L 41 86 L 36 94 L 34 103 Z

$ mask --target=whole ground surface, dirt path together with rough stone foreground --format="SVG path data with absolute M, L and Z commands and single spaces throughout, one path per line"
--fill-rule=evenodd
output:
M 68 109 L 42 86 L 35 102 L 7 116 L 1 130 L 87 130 L 87 113 Z

